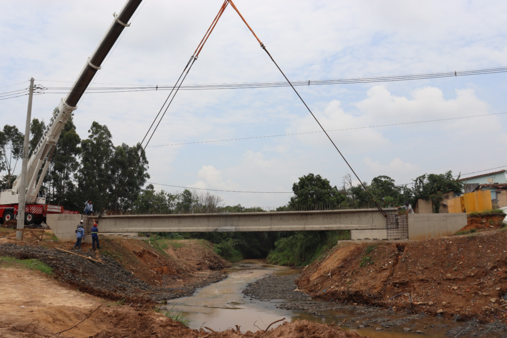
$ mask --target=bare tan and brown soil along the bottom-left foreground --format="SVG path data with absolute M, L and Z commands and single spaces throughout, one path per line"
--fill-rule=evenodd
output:
M 21 281 L 17 283 L 17 281 Z M 133 305 L 118 306 L 89 294 L 71 290 L 39 272 L 0 265 L 0 336 L 13 337 L 314 337 L 356 338 L 354 332 L 298 321 L 284 323 L 264 333 L 232 330 L 210 332 L 192 330 L 160 313 Z M 57 335 L 79 323 L 75 328 Z

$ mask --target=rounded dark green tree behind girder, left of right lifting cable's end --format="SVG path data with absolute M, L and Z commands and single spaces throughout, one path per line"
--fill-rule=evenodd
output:
M 311 173 L 300 177 L 299 182 L 293 184 L 292 191 L 294 191 L 294 196 L 289 201 L 289 207 L 292 209 L 312 210 L 322 206 L 336 207 L 345 199 L 336 185 L 332 187 L 329 180 Z

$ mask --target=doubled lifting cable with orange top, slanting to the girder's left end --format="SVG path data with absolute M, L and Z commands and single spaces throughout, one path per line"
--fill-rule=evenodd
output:
M 130 177 L 132 176 L 132 174 L 134 173 L 135 171 L 135 168 L 137 166 L 137 164 L 139 163 L 139 161 L 141 160 L 141 155 L 142 153 L 144 153 L 144 151 L 146 151 L 146 147 L 148 146 L 148 144 L 150 143 L 153 135 L 155 134 L 155 131 L 157 130 L 158 126 L 160 125 L 160 122 L 162 121 L 162 119 L 164 118 L 165 116 L 165 113 L 167 112 L 167 110 L 169 109 L 169 106 L 171 105 L 174 97 L 176 96 L 176 93 L 178 92 L 179 88 L 182 86 L 183 82 L 185 81 L 185 78 L 187 77 L 187 75 L 189 74 L 190 70 L 192 69 L 192 66 L 194 65 L 194 62 L 197 60 L 197 57 L 199 56 L 199 53 L 201 52 L 202 48 L 204 47 L 204 44 L 206 43 L 206 41 L 208 40 L 209 36 L 211 35 L 211 32 L 213 31 L 214 27 L 216 26 L 216 24 L 218 23 L 218 20 L 220 19 L 220 17 L 222 16 L 222 13 L 224 13 L 227 5 L 229 4 L 228 0 L 225 0 L 224 3 L 222 4 L 222 6 L 220 7 L 220 10 L 218 12 L 218 14 L 216 14 L 215 18 L 213 19 L 213 21 L 211 22 L 211 25 L 209 26 L 208 30 L 206 31 L 206 33 L 204 34 L 204 37 L 202 38 L 201 42 L 199 43 L 199 45 L 197 46 L 194 54 L 190 57 L 189 61 L 187 62 L 187 65 L 185 66 L 185 68 L 183 69 L 183 72 L 182 74 L 179 75 L 179 78 L 178 80 L 176 81 L 176 84 L 173 86 L 173 88 L 171 89 L 169 95 L 167 95 L 167 98 L 165 99 L 165 102 L 164 104 L 162 105 L 162 108 L 160 108 L 157 116 L 155 117 L 155 119 L 153 120 L 152 124 L 150 125 L 150 128 L 148 129 L 148 131 L 146 132 L 146 134 L 144 135 L 144 138 L 142 139 L 142 141 L 139 143 L 139 145 L 137 146 L 137 149 L 136 151 L 134 152 L 133 156 L 131 157 L 129 163 L 127 164 L 126 168 L 125 168 L 125 171 L 120 175 L 120 178 L 122 177 L 125 177 L 125 174 L 126 172 L 130 169 L 130 173 L 127 175 L 123 185 L 121 186 L 120 190 L 117 190 L 115 188 L 115 191 L 114 191 L 114 195 L 115 195 L 115 200 L 118 200 L 118 196 L 123 192 L 123 190 L 125 189 L 128 181 L 130 180 Z M 185 72 L 186 71 L 186 72 Z M 185 75 L 184 75 L 185 74 Z M 182 78 L 183 77 L 183 78 Z M 176 89 L 174 89 L 176 88 Z M 174 94 L 173 94 L 174 92 Z M 172 94 L 172 97 L 171 97 L 171 94 Z M 171 99 L 169 100 L 169 98 L 171 97 Z M 167 103 L 167 101 L 169 100 L 169 103 Z M 167 104 L 167 106 L 166 106 Z M 162 116 L 160 116 L 160 113 L 162 112 L 162 110 L 165 108 L 164 110 L 164 113 L 162 114 Z M 160 119 L 158 118 L 160 116 Z M 155 124 L 155 122 L 157 121 L 158 119 L 158 123 L 157 125 L 155 126 L 155 128 L 153 129 L 151 135 L 150 135 L 150 138 L 148 139 L 148 141 L 146 142 L 146 144 L 144 145 L 143 149 L 142 149 L 142 152 L 141 154 L 139 154 L 139 156 L 137 156 L 138 152 L 139 152 L 139 149 L 142 147 L 142 143 L 146 140 L 146 138 L 148 137 L 148 134 L 150 133 L 150 130 L 152 129 L 153 125 Z M 136 163 L 131 166 L 133 160 L 138 157 Z M 100 211 L 100 214 L 98 215 L 97 219 L 96 219 L 96 222 L 98 222 L 100 220 L 100 218 L 102 217 L 104 211 L 105 211 L 105 208 L 106 206 L 110 203 L 111 201 L 111 196 L 107 199 L 106 203 L 104 204 L 102 210 Z

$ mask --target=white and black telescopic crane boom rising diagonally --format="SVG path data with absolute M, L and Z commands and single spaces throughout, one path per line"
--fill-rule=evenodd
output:
M 45 197 L 38 196 L 44 177 L 48 171 L 49 163 L 55 151 L 56 143 L 60 138 L 60 133 L 67 120 L 73 114 L 73 111 L 78 108 L 77 106 L 79 100 L 92 82 L 97 71 L 100 69 L 107 54 L 111 51 L 120 37 L 123 29 L 129 26 L 128 22 L 141 2 L 142 0 L 127 0 L 120 13 L 113 14 L 114 20 L 107 29 L 102 40 L 93 52 L 92 56 L 87 59 L 83 70 L 65 98 L 60 100 L 60 104 L 53 111 L 53 116 L 49 120 L 48 126 L 44 130 L 41 140 L 37 144 L 37 147 L 33 150 L 33 154 L 28 161 L 28 170 L 26 175 L 26 204 L 46 203 Z M 43 164 L 44 168 L 39 176 L 39 172 Z M 14 205 L 19 202 L 19 198 L 23 198 L 24 194 L 20 195 L 19 185 L 20 178 L 18 177 L 14 181 L 12 189 L 0 192 L 0 205 Z

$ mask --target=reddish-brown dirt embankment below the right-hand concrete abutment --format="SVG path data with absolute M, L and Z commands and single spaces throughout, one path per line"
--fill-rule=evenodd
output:
M 448 319 L 505 320 L 507 231 L 426 241 L 341 244 L 297 280 L 312 297 L 424 312 Z

